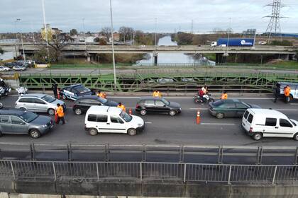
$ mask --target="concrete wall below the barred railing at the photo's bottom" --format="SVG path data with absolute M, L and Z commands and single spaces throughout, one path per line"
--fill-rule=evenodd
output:
M 226 185 L 199 182 L 89 180 L 0 181 L 0 192 L 135 197 L 298 197 L 297 185 Z

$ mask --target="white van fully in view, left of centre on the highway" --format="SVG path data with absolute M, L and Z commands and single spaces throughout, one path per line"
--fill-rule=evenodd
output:
M 118 107 L 91 106 L 85 117 L 85 129 L 92 136 L 98 133 L 127 133 L 134 136 L 144 127 L 142 118 L 128 115 Z

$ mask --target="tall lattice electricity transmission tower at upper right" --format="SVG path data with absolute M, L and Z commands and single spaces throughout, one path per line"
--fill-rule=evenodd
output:
M 272 7 L 271 15 L 265 16 L 270 18 L 270 22 L 266 29 L 266 33 L 269 33 L 267 42 L 270 42 L 272 33 L 274 33 L 275 38 L 277 34 L 281 36 L 282 28 L 280 27 L 280 18 L 285 17 L 280 16 L 280 8 L 284 7 L 284 5 L 282 5 L 282 0 L 273 0 L 271 4 L 267 4 L 266 6 Z

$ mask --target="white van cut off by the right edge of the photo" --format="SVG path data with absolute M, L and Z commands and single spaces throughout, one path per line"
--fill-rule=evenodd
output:
M 242 117 L 242 127 L 255 140 L 262 137 L 289 137 L 298 140 L 298 122 L 277 110 L 248 109 Z

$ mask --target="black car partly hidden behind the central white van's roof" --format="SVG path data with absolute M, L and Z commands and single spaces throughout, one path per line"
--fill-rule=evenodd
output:
M 116 107 L 118 103 L 113 100 L 100 98 L 97 95 L 83 95 L 75 100 L 75 103 L 72 106 L 72 110 L 75 112 L 76 115 L 81 115 L 83 112 L 87 112 L 89 107 L 96 105 Z

